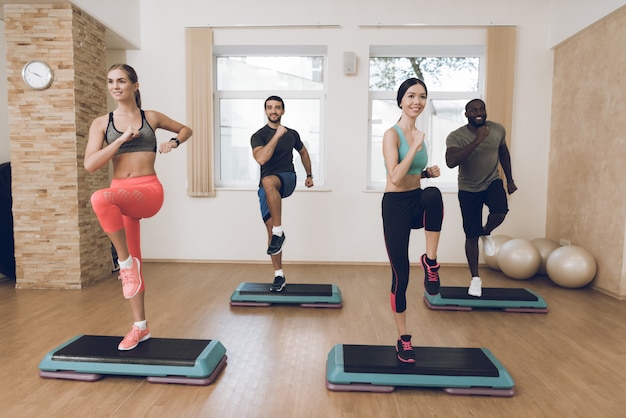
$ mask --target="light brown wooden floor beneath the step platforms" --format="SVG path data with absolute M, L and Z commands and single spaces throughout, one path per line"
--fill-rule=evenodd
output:
M 422 301 L 421 268 L 409 287 L 418 346 L 487 347 L 515 380 L 515 396 L 452 396 L 438 389 L 331 392 L 325 364 L 335 344 L 393 345 L 387 266 L 287 265 L 289 282 L 334 283 L 342 309 L 231 307 L 240 282 L 269 265 L 146 263 L 154 337 L 218 339 L 228 364 L 210 386 L 138 377 L 82 383 L 38 376 L 45 354 L 78 334 L 123 335 L 130 309 L 116 276 L 84 290 L 16 290 L 0 284 L 0 415 L 7 417 L 616 417 L 626 410 L 626 302 L 545 277 L 506 279 L 484 268 L 486 287 L 527 287 L 548 314 L 441 312 Z M 443 266 L 444 285 L 468 284 Z

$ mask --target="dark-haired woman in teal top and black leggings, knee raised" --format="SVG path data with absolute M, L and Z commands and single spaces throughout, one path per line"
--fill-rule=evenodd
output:
M 426 167 L 428 152 L 425 134 L 415 127 L 427 103 L 423 81 L 406 80 L 398 89 L 400 119 L 383 136 L 387 184 L 382 200 L 385 245 L 391 264 L 391 309 L 398 330 L 398 359 L 415 363 L 411 335 L 406 326 L 406 290 L 409 284 L 409 237 L 412 229 L 424 228 L 426 253 L 421 256 L 424 287 L 439 292 L 437 247 L 443 223 L 443 199 L 436 187 L 421 188 L 421 179 L 438 177 L 439 167 Z

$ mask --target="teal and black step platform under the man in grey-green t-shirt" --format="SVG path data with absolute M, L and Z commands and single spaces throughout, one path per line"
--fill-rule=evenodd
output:
M 529 289 L 484 287 L 477 298 L 467 294 L 467 287 L 444 287 L 437 295 L 424 292 L 424 303 L 430 309 L 471 311 L 472 309 L 502 309 L 507 312 L 547 313 L 543 298 Z

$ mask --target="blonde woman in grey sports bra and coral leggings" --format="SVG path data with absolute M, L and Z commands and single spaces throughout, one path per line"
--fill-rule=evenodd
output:
M 134 323 L 120 342 L 132 350 L 150 338 L 144 306 L 139 221 L 156 215 L 163 204 L 163 187 L 154 169 L 157 149 L 168 153 L 191 137 L 191 129 L 162 113 L 141 108 L 135 70 L 115 64 L 107 73 L 108 90 L 117 107 L 96 118 L 89 129 L 85 169 L 93 173 L 113 163 L 111 186 L 91 196 L 91 205 L 118 255 L 122 293 L 129 300 Z M 155 131 L 175 134 L 157 146 Z

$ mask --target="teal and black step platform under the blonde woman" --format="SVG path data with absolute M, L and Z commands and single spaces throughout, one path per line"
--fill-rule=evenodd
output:
M 145 376 L 152 383 L 211 384 L 226 365 L 218 340 L 150 338 L 129 351 L 122 337 L 78 335 L 50 351 L 39 376 L 96 381 L 105 375 Z

